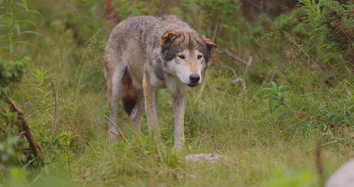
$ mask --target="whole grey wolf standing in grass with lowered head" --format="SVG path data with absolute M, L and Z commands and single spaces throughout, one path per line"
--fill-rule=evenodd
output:
M 181 148 L 188 89 L 202 82 L 210 50 L 216 47 L 178 16 L 136 16 L 120 22 L 110 33 L 104 55 L 110 119 L 117 124 L 122 99 L 127 114 L 132 113 L 132 128 L 139 135 L 145 107 L 149 134 L 154 132 L 160 139 L 157 91 L 167 88 L 173 97 L 173 147 Z M 110 130 L 118 132 L 114 126 Z

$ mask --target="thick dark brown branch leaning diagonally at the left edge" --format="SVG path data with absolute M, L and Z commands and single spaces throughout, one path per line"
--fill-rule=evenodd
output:
M 42 148 L 40 147 L 40 142 L 37 142 L 35 140 L 35 137 L 33 136 L 32 131 L 30 130 L 30 126 L 28 125 L 27 121 L 25 120 L 25 114 L 23 113 L 23 111 L 21 110 L 21 108 L 18 108 L 18 106 L 16 106 L 16 103 L 13 102 L 10 98 L 8 98 L 8 96 L 6 96 L 6 94 L 1 94 L 0 96 L 3 96 L 4 101 L 6 103 L 8 103 L 11 106 L 11 111 L 12 112 L 16 112 L 17 118 L 18 118 L 18 123 L 16 123 L 18 130 L 24 131 L 24 135 L 28 140 L 28 143 L 30 144 L 30 149 L 33 152 L 33 154 L 35 155 L 35 157 L 38 158 L 40 164 L 44 164 L 44 155 L 42 152 Z

